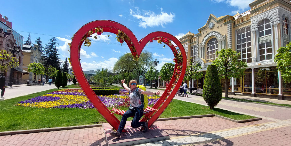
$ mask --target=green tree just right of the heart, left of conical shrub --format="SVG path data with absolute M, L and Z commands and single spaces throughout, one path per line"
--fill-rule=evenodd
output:
M 197 72 L 200 69 L 201 69 L 201 66 L 199 66 L 198 64 L 194 65 L 193 57 L 190 57 L 188 60 L 188 66 L 186 68 L 185 79 L 189 80 L 190 83 L 192 83 L 192 79 L 194 80 L 200 79 L 203 75 L 203 72 Z M 190 87 L 191 86 L 192 85 L 190 85 Z

